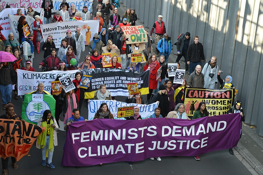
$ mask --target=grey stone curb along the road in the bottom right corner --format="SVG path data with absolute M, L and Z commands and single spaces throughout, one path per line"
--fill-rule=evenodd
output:
M 251 165 L 251 167 L 260 175 L 263 175 L 263 165 L 241 144 L 238 142 L 236 151 Z

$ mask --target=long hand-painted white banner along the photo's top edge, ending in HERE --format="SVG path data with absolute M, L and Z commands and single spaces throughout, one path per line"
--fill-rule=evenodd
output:
M 5 6 L 8 4 L 10 5 L 11 8 L 19 8 L 21 6 L 25 6 L 28 8 L 29 6 L 32 7 L 34 10 L 37 12 L 40 12 L 41 10 L 41 5 L 42 5 L 42 0 L 27 0 L 27 1 L 22 1 L 22 0 L 2 0 L 0 1 L 0 5 L 5 8 Z M 52 12 L 57 12 L 59 11 L 59 6 L 61 5 L 62 1 L 61 0 L 53 0 L 53 9 Z M 92 0 L 68 0 L 67 3 L 69 3 L 69 7 L 74 4 L 75 8 L 78 11 L 81 11 L 83 6 L 87 6 L 88 10 L 92 7 Z M 24 10 L 23 10 L 24 11 Z

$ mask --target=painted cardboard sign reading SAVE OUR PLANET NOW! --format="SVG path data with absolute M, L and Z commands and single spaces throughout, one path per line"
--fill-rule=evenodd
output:
M 142 25 L 124 26 L 121 27 L 121 30 L 124 32 L 126 38 L 129 38 L 126 44 L 148 42 L 147 33 Z

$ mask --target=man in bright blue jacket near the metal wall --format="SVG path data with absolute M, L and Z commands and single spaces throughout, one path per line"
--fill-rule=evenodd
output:
M 157 49 L 159 50 L 160 55 L 164 55 L 165 62 L 168 63 L 168 58 L 172 50 L 172 40 L 167 33 L 164 34 L 163 39 L 159 40 Z

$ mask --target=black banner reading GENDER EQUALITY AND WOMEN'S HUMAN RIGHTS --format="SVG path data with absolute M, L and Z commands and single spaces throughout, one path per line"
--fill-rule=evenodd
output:
M 85 98 L 93 98 L 100 84 L 105 84 L 111 96 L 128 96 L 126 83 L 137 83 L 142 95 L 149 94 L 149 71 L 138 72 L 126 69 L 83 69 L 82 75 L 91 75 L 90 87 Z

